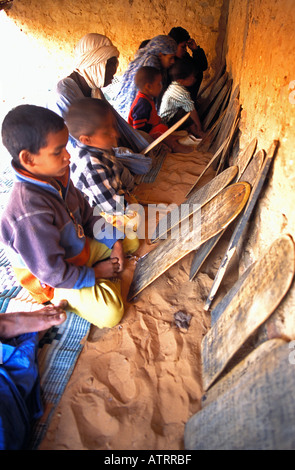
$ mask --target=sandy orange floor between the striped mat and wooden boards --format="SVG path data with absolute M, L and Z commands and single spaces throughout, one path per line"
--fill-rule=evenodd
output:
M 180 204 L 209 159 L 169 154 L 156 181 L 136 188 L 137 198 Z M 139 255 L 150 249 L 142 241 Z M 193 255 L 126 302 L 120 325 L 91 328 L 40 449 L 183 449 L 185 423 L 200 409 L 200 347 L 210 327 L 203 303 L 216 260 L 190 282 Z M 134 268 L 128 260 L 125 298 Z M 188 324 L 176 321 L 178 312 L 191 316 Z

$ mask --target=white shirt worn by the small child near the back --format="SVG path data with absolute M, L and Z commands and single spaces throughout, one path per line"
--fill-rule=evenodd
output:
M 174 81 L 169 85 L 162 98 L 159 112 L 162 121 L 169 122 L 180 108 L 189 113 L 195 109 L 195 105 L 187 89 Z

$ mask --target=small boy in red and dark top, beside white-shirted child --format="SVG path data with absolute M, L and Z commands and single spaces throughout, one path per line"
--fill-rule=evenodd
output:
M 134 129 L 147 132 L 156 139 L 168 130 L 168 126 L 161 121 L 154 103 L 154 98 L 159 96 L 162 90 L 162 74 L 155 67 L 144 66 L 138 69 L 134 81 L 139 91 L 131 105 L 128 122 Z M 172 135 L 166 137 L 164 142 L 173 152 L 192 151 Z

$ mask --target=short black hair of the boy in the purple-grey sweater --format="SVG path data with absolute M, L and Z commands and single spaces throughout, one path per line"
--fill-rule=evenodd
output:
M 41 106 L 22 104 L 11 109 L 2 123 L 2 142 L 20 166 L 19 154 L 28 150 L 37 154 L 47 145 L 47 136 L 63 130 L 65 122 L 55 112 Z

